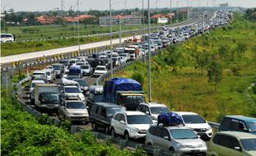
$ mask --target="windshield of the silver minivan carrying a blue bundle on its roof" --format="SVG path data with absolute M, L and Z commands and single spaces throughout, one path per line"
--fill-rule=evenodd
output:
M 170 130 L 174 140 L 197 139 L 197 135 L 190 129 L 173 129 Z

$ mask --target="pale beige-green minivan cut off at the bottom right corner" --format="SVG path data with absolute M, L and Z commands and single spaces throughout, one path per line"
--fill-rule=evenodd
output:
M 220 131 L 210 140 L 209 155 L 256 155 L 256 135 L 241 131 Z

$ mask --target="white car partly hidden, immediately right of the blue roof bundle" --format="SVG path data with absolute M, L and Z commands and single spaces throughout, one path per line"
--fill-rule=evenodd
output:
M 211 126 L 206 122 L 204 118 L 195 112 L 176 112 L 183 117 L 185 126 L 191 128 L 197 132 L 197 135 L 201 136 L 203 140 L 210 140 L 212 136 Z

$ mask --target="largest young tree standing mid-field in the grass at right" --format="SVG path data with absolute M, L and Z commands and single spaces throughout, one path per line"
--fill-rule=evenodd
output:
M 222 79 L 223 69 L 218 62 L 211 62 L 211 65 L 208 67 L 208 82 L 215 85 L 215 92 L 217 92 L 217 85 Z

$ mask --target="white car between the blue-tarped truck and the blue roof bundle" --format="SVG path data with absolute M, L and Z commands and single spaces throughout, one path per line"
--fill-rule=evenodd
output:
M 140 103 L 137 111 L 145 112 L 155 122 L 157 122 L 159 114 L 171 112 L 168 107 L 161 103 Z

